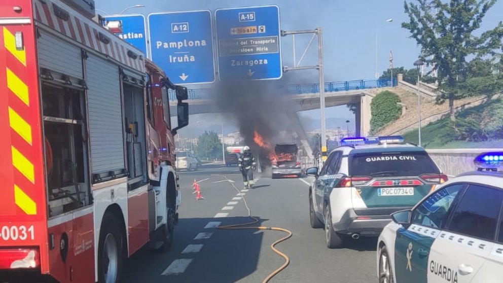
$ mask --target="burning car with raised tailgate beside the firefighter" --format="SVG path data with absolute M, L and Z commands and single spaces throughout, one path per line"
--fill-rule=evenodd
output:
M 297 144 L 282 143 L 276 144 L 274 147 L 275 160 L 272 162 L 272 179 L 277 179 L 280 176 L 296 176 L 300 178 L 302 175 L 301 163 L 297 160 L 299 147 Z

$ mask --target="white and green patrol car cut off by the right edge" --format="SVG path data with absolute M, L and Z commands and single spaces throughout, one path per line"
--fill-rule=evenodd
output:
M 474 161 L 478 171 L 392 215 L 378 240 L 379 282 L 503 282 L 503 152 Z

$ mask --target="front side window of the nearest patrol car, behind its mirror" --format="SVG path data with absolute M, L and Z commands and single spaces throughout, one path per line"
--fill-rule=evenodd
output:
M 452 185 L 430 195 L 414 209 L 412 224 L 442 228 L 447 221 L 449 208 L 463 187 L 462 184 Z

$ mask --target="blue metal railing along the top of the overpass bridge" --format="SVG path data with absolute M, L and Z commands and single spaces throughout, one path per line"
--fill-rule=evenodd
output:
M 357 80 L 357 81 L 345 81 L 345 82 L 330 82 L 325 83 L 325 92 L 337 92 L 337 91 L 349 91 L 358 89 L 371 89 L 371 88 L 381 88 L 381 87 L 391 87 L 397 86 L 397 79 L 393 78 L 391 83 L 391 78 L 387 79 L 377 79 L 377 80 Z M 211 89 L 199 88 L 199 89 L 189 89 L 189 99 L 208 99 L 211 98 Z M 288 85 L 283 90 L 278 90 L 278 93 L 282 94 L 308 94 L 308 93 L 318 93 L 319 84 L 299 84 L 299 85 Z M 169 100 L 176 100 L 174 91 L 169 90 Z

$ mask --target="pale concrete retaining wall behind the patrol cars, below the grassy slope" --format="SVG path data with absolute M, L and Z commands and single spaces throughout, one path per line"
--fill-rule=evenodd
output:
M 484 152 L 501 151 L 501 149 L 442 149 L 426 150 L 442 171 L 450 176 L 455 176 L 477 168 L 473 160 Z

